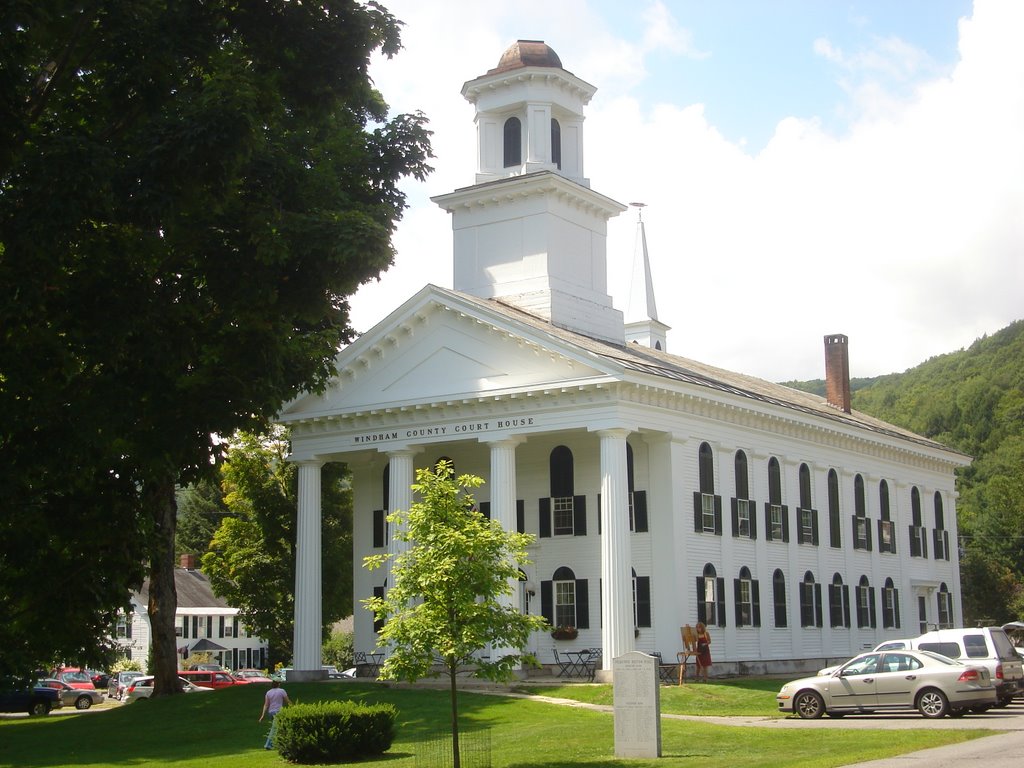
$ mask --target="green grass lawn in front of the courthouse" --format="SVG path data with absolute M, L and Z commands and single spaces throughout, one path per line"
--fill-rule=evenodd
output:
M 567 687 L 580 692 L 577 697 L 610 697 L 608 686 Z M 292 699 L 298 701 L 353 698 L 389 701 L 397 707 L 398 734 L 391 751 L 379 760 L 360 762 L 359 766 L 414 768 L 417 753 L 422 753 L 427 742 L 446 732 L 449 702 L 444 691 L 347 682 L 290 683 L 287 688 Z M 703 690 L 697 690 L 700 688 Z M 553 694 L 555 690 L 558 689 L 545 688 L 541 692 Z M 286 765 L 276 753 L 262 749 L 266 725 L 257 723 L 256 719 L 264 691 L 265 686 L 253 685 L 139 701 L 108 712 L 2 719 L 0 765 L 19 768 Z M 685 690 L 663 687 L 662 692 L 663 712 L 697 706 L 694 702 L 705 701 L 717 693 L 726 702 L 723 707 L 729 710 L 718 714 L 774 713 L 774 701 L 767 692 L 749 682 L 686 686 Z M 751 703 L 744 706 L 744 697 Z M 690 703 L 686 703 L 687 699 Z M 489 732 L 495 768 L 565 765 L 621 768 L 624 764 L 631 768 L 667 768 L 691 765 L 693 758 L 700 759 L 702 768 L 778 768 L 780 762 L 784 762 L 786 768 L 824 767 L 899 755 L 988 733 L 942 730 L 940 724 L 923 721 L 920 729 L 901 730 L 896 739 L 892 731 L 881 730 L 845 730 L 842 727 L 774 730 L 664 720 L 665 757 L 624 763 L 612 757 L 613 733 L 608 714 L 474 693 L 461 694 L 460 701 L 464 727 L 486 728 Z M 761 702 L 769 705 L 768 712 L 761 710 Z M 743 711 L 744 707 L 748 711 Z M 759 712 L 752 713 L 753 709 Z M 782 755 L 784 761 L 780 760 Z M 464 765 L 472 768 L 471 764 Z

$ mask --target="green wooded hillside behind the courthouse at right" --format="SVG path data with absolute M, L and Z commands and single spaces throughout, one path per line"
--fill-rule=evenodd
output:
M 964 622 L 1024 620 L 1024 321 L 857 383 L 854 409 L 974 457 L 957 476 Z

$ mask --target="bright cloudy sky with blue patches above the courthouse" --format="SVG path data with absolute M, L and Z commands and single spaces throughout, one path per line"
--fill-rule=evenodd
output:
M 585 175 L 642 202 L 668 351 L 771 381 L 912 368 L 1024 317 L 1024 2 L 383 0 L 401 50 L 371 77 L 430 121 L 394 265 L 351 298 L 370 330 L 452 286 L 450 215 L 473 183 L 466 81 L 544 40 L 597 88 Z M 627 309 L 636 209 L 608 223 Z

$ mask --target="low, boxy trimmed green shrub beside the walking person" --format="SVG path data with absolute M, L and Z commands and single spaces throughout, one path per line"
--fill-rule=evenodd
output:
M 398 711 L 391 705 L 314 701 L 276 715 L 273 745 L 292 763 L 344 763 L 381 755 L 394 740 Z

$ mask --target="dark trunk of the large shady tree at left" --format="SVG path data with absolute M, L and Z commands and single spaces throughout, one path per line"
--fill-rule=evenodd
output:
M 174 589 L 174 531 L 177 526 L 177 503 L 174 478 L 168 476 L 147 483 L 145 505 L 153 515 L 154 530 L 150 542 L 150 625 L 153 631 L 153 695 L 180 693 L 178 648 L 174 637 L 174 611 L 178 596 Z

